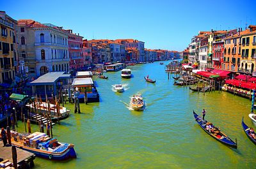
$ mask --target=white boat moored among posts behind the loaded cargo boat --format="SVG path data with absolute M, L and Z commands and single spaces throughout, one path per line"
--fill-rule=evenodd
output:
M 53 122 L 66 119 L 68 117 L 70 110 L 67 110 L 67 108 L 60 106 L 60 108 L 59 108 L 60 112 L 58 113 L 57 105 L 54 105 L 52 103 L 49 103 L 49 105 L 50 105 L 51 117 L 52 117 Z M 26 105 L 26 107 L 31 108 L 31 110 L 33 110 L 35 108 L 36 109 L 35 113 L 40 114 L 40 115 L 45 115 L 45 114 L 48 114 L 48 112 L 49 112 L 48 103 L 46 103 L 44 101 L 42 101 L 42 102 L 36 101 L 35 105 L 33 102 L 30 104 L 28 103 Z

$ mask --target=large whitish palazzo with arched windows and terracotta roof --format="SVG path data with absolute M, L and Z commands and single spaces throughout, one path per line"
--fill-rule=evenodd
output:
M 18 20 L 19 52 L 29 77 L 69 71 L 68 33 L 62 27 Z

